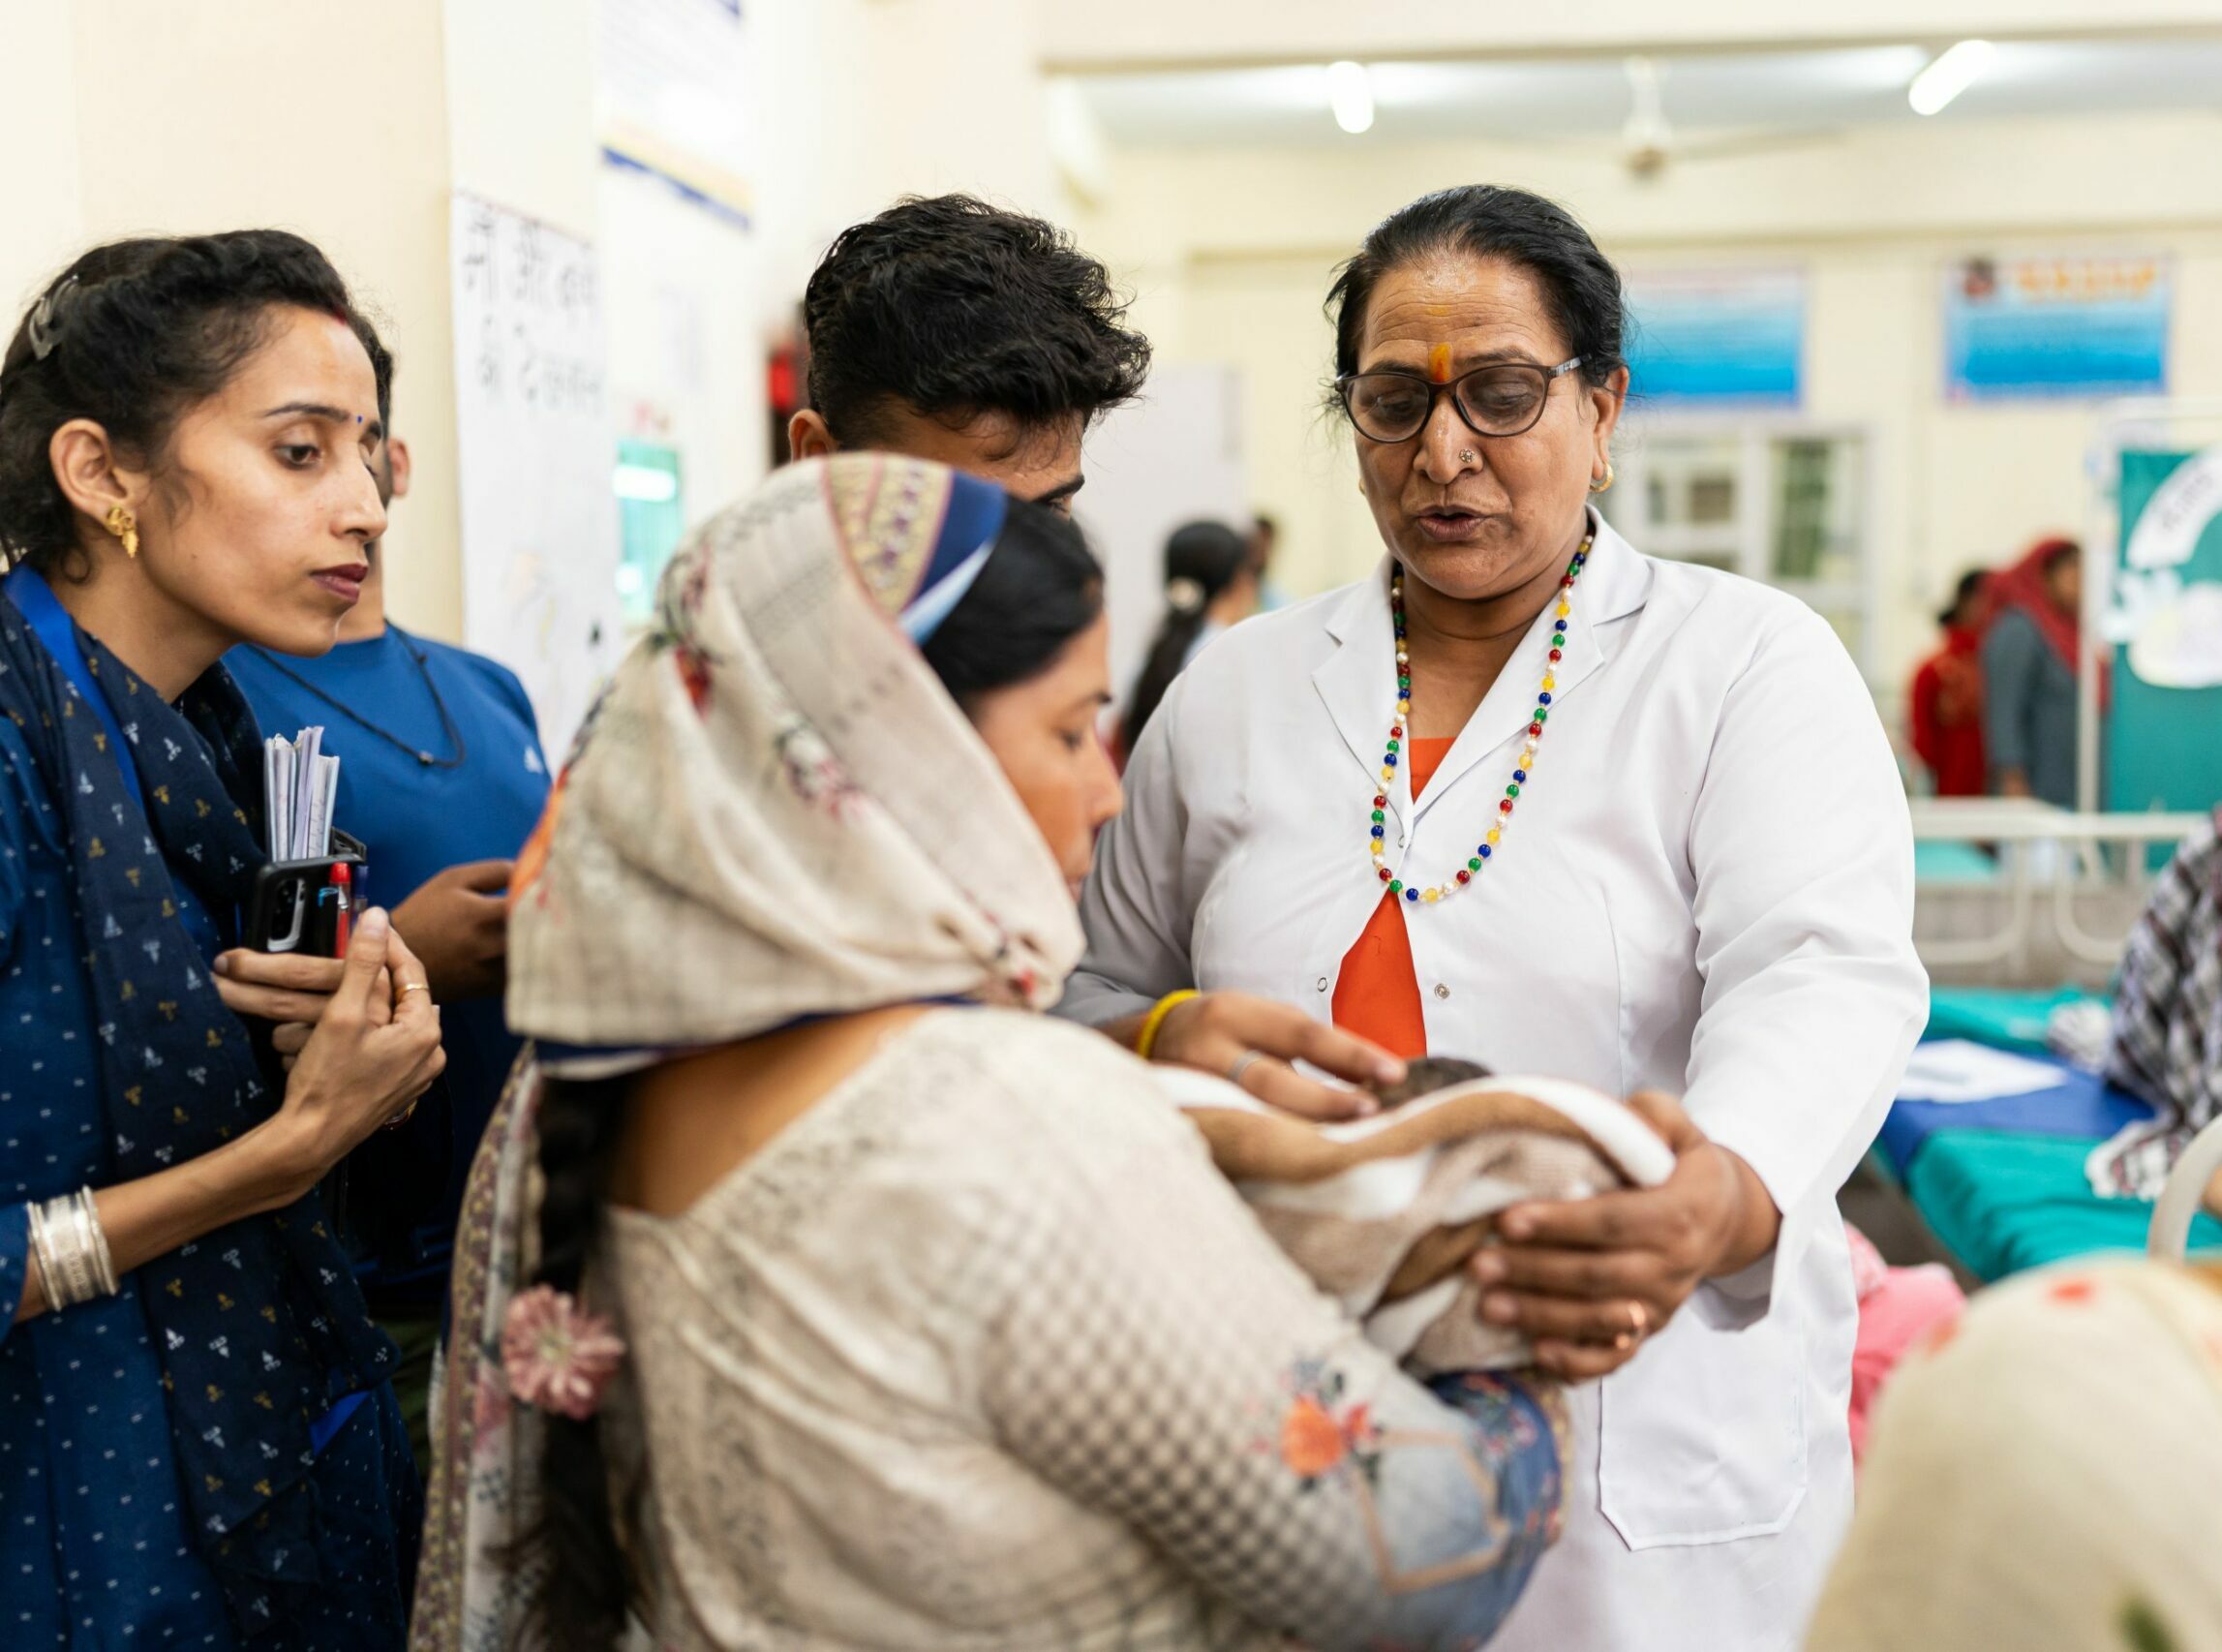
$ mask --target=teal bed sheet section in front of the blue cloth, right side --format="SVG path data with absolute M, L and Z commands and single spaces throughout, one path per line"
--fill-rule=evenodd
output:
M 2100 1198 L 2084 1178 L 2095 1141 L 1940 1129 L 1906 1170 L 1906 1196 L 1931 1232 L 1984 1283 L 2106 1250 L 2144 1250 L 2153 1207 Z M 2191 1250 L 2222 1250 L 2200 1216 Z

